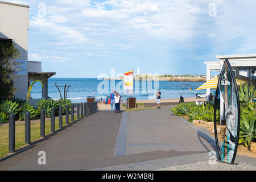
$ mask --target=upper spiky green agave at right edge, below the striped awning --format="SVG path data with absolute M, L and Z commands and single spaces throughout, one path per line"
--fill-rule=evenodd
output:
M 255 98 L 256 90 L 253 85 L 248 86 L 246 83 L 244 86 L 240 85 L 239 100 L 242 107 L 246 107 L 249 103 L 253 103 Z

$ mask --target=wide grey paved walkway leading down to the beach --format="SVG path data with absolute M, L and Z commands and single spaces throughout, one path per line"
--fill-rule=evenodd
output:
M 170 107 L 101 110 L 2 160 L 0 170 L 160 169 L 208 160 L 214 145 L 208 130 L 172 115 Z M 46 165 L 38 164 L 39 151 L 46 152 Z

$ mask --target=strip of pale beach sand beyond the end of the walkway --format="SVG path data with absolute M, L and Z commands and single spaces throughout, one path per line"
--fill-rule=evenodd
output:
M 162 99 L 161 102 L 179 102 L 180 98 L 170 98 L 170 99 Z M 195 98 L 195 97 L 189 97 L 184 98 L 184 102 L 203 102 L 206 101 L 206 98 Z M 139 100 L 136 101 L 137 103 L 156 103 L 156 100 Z M 110 110 L 110 104 L 99 104 L 100 110 Z

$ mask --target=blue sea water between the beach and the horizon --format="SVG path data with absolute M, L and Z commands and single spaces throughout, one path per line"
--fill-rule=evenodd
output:
M 122 92 L 122 81 L 115 81 L 115 84 L 110 84 L 110 81 L 97 80 L 97 78 L 49 78 L 48 80 L 48 96 L 57 100 L 60 98 L 59 90 L 57 90 L 54 84 L 69 85 L 71 87 L 68 90 L 67 98 L 71 99 L 72 102 L 85 102 L 86 97 L 93 96 L 92 90 L 96 92 L 97 98 L 105 98 L 108 96 L 106 91 L 112 92 L 115 89 Z M 102 85 L 105 83 L 105 85 Z M 162 98 L 179 98 L 183 97 L 196 97 L 196 93 L 205 92 L 205 90 L 195 90 L 203 82 L 180 82 L 180 81 L 159 81 L 159 89 L 162 93 Z M 115 85 L 115 86 L 114 86 Z M 148 100 L 155 99 L 154 93 L 157 88 L 154 88 L 155 82 L 147 84 L 146 81 L 135 81 L 134 85 L 137 85 L 137 93 L 134 96 L 137 100 Z M 157 86 L 157 84 L 156 84 Z M 42 96 L 42 85 L 40 82 L 36 82 L 31 90 L 32 98 L 41 98 Z M 192 89 L 189 90 L 189 87 Z M 98 89 L 99 88 L 99 89 Z M 64 87 L 60 87 L 61 95 L 63 97 Z M 101 93 L 101 90 L 103 93 Z M 123 96 L 123 94 L 122 94 Z

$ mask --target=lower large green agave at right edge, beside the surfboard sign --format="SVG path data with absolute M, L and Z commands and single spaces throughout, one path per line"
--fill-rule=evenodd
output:
M 255 120 L 255 112 L 250 112 L 249 114 L 241 113 L 239 143 L 245 143 L 246 147 L 249 147 L 251 142 L 256 138 Z

